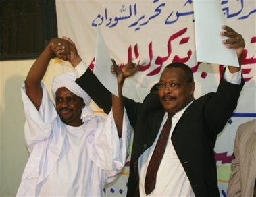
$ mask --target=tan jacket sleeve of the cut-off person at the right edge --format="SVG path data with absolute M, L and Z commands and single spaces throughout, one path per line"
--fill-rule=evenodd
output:
M 234 142 L 234 159 L 231 163 L 232 173 L 228 182 L 228 196 L 241 196 L 240 156 L 239 156 L 239 128 Z

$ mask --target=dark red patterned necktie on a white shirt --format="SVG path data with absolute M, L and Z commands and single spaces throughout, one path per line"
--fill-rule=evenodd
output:
M 145 179 L 145 192 L 150 194 L 155 189 L 155 181 L 157 179 L 157 171 L 163 158 L 163 153 L 165 152 L 165 147 L 168 142 L 168 137 L 170 134 L 170 129 L 172 125 L 172 117 L 174 113 L 168 114 L 168 119 L 163 125 L 161 134 L 158 138 L 155 150 L 152 154 L 151 160 L 149 161 L 149 166 L 147 167 L 147 174 Z

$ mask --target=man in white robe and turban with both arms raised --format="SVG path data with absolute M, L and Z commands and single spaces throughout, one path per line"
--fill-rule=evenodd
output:
M 120 96 L 112 95 L 111 113 L 103 119 L 88 107 L 91 98 L 74 82 L 76 75 L 62 74 L 53 80 L 55 107 L 41 80 L 58 41 L 51 40 L 22 86 L 30 157 L 17 196 L 103 196 L 105 185 L 122 171 L 130 143 L 122 85 L 118 84 Z M 113 67 L 122 78 L 117 65 Z M 68 120 L 76 111 L 80 117 Z

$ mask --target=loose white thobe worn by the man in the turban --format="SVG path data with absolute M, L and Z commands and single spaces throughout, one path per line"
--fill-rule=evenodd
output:
M 130 143 L 126 113 L 118 138 L 112 112 L 80 127 L 64 124 L 42 84 L 39 111 L 22 87 L 25 139 L 30 157 L 17 196 L 103 196 L 106 184 L 122 171 Z

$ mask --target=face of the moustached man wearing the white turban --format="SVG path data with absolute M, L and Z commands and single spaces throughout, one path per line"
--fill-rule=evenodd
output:
M 61 121 L 70 126 L 82 125 L 81 113 L 85 106 L 84 101 L 67 88 L 59 88 L 55 96 L 56 109 Z

